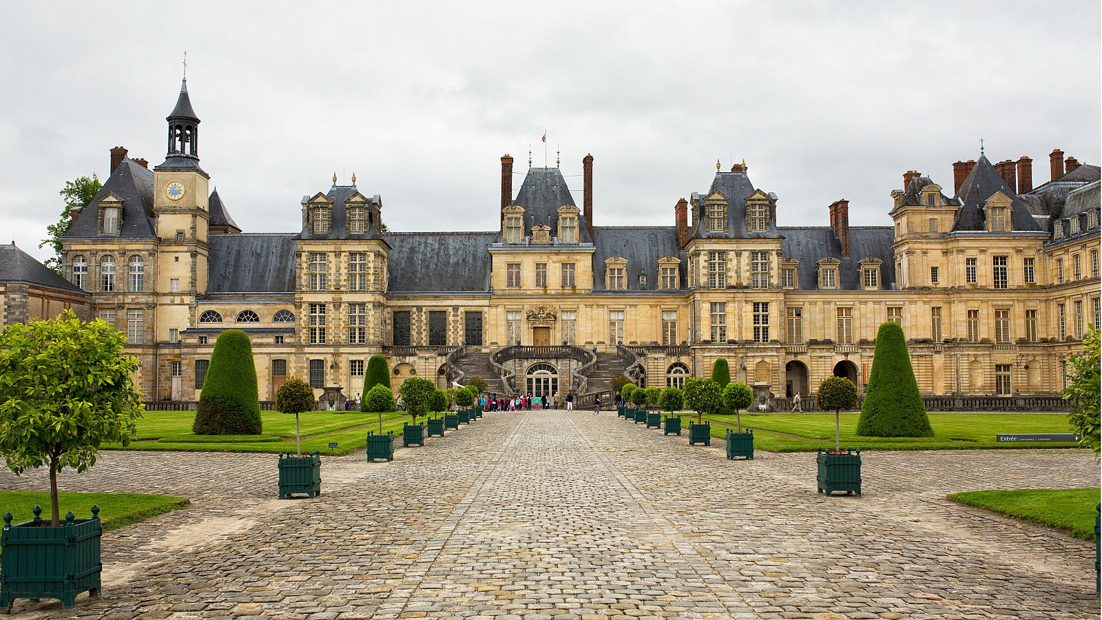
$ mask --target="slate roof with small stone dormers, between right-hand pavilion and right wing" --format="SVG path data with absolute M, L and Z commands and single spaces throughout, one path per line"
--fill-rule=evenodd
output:
M 858 269 L 864 258 L 879 258 L 880 288 L 895 289 L 895 255 L 892 242 L 895 231 L 890 226 L 850 226 L 850 257 L 842 257 L 842 245 L 834 236 L 830 226 L 787 227 L 781 226 L 780 233 L 785 240 L 780 242 L 780 252 L 786 258 L 797 258 L 800 290 L 818 290 L 818 261 L 823 258 L 838 258 L 839 289 L 861 290 Z

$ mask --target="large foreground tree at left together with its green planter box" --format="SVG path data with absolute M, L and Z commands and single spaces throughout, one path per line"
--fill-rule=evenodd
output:
M 84 471 L 96 464 L 100 446 L 128 446 L 137 435 L 138 360 L 126 346 L 114 325 L 82 322 L 72 310 L 0 331 L 0 452 L 17 475 L 50 468 L 50 521 L 13 524 L 4 514 L 0 609 L 19 598 L 73 607 L 78 594 L 100 591 L 99 506 L 90 519 L 68 512 L 63 522 L 57 474 L 66 467 Z

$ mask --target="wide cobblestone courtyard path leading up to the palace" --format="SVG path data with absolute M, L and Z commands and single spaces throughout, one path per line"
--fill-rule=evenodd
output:
M 105 595 L 20 618 L 1098 618 L 1093 545 L 944 500 L 1087 487 L 1082 450 L 866 452 L 864 498 L 814 457 L 727 461 L 614 414 L 489 414 L 391 463 L 106 452 L 72 491 L 193 505 L 105 535 Z M 45 475 L 0 473 L 7 489 Z

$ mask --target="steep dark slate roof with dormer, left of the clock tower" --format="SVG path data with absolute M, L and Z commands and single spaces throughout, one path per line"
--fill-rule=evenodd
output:
M 153 222 L 153 171 L 123 159 L 122 163 L 104 183 L 96 197 L 82 209 L 73 221 L 67 238 L 99 236 L 99 203 L 108 193 L 122 199 L 122 222 L 120 237 L 152 237 L 156 226 Z

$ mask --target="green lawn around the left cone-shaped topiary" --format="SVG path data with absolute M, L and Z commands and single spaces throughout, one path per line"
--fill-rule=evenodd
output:
M 138 439 L 128 450 L 184 450 L 224 452 L 282 452 L 294 450 L 294 416 L 279 411 L 260 411 L 263 435 L 195 435 L 192 423 L 195 411 L 145 411 L 138 420 Z M 419 418 L 424 420 L 424 417 Z M 408 414 L 382 414 L 382 431 L 401 435 Z M 360 411 L 310 411 L 300 417 L 303 451 L 329 453 L 329 442 L 336 441 L 334 455 L 346 455 L 364 447 L 367 432 L 379 430 L 379 415 Z M 109 449 L 122 449 L 109 445 Z

